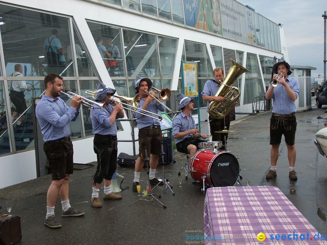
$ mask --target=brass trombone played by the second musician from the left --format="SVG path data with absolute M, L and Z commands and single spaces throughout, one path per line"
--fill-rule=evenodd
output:
M 85 91 L 85 93 L 92 95 L 93 98 L 95 98 L 95 96 L 96 96 L 96 92 L 93 92 L 93 91 L 90 91 L 90 90 Z M 124 97 L 124 96 L 119 96 L 119 95 L 113 95 L 112 97 L 113 97 L 113 98 L 120 99 L 120 100 L 127 101 L 127 102 L 129 102 L 130 104 L 132 104 L 132 105 L 129 105 L 129 104 L 126 104 L 126 103 L 123 103 L 123 102 L 118 102 L 118 103 L 120 103 L 120 104 L 122 104 L 122 105 L 130 106 L 130 107 L 132 108 L 132 109 L 130 109 L 130 108 L 128 108 L 128 107 L 124 107 L 124 106 L 123 106 L 124 109 L 130 110 L 130 111 L 134 111 L 134 112 L 136 112 L 136 113 L 142 114 L 142 115 L 147 116 L 147 117 L 151 117 L 151 118 L 156 119 L 156 120 L 159 120 L 159 121 L 163 120 L 163 117 L 162 117 L 161 115 L 159 115 L 159 114 L 156 114 L 156 113 L 153 113 L 153 112 L 150 112 L 150 111 L 144 110 L 144 109 L 142 109 L 142 108 L 138 108 L 137 106 L 138 106 L 139 103 L 140 103 L 140 101 L 139 101 L 139 99 L 138 99 L 139 96 L 140 96 L 140 95 L 137 94 L 134 98 Z M 112 98 L 109 99 L 109 103 L 110 103 L 111 105 L 113 105 L 115 102 L 117 102 L 117 101 L 114 100 L 114 99 L 112 99 Z M 134 106 L 133 106 L 133 105 L 134 105 Z M 142 113 L 142 112 L 139 112 L 139 111 L 136 111 L 137 109 L 138 109 L 138 110 L 141 110 L 141 111 L 144 111 L 144 112 L 147 112 L 147 113 L 150 113 L 150 114 L 153 114 L 154 116 L 157 116 L 158 118 L 153 117 L 153 116 L 150 116 L 150 115 L 146 115 L 146 114 L 144 114 L 144 113 Z

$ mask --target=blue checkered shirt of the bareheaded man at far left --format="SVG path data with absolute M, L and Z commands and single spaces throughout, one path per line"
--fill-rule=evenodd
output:
M 36 105 L 35 114 L 41 126 L 44 142 L 70 136 L 70 121 L 75 121 L 79 114 L 80 106 L 75 109 L 68 107 L 59 97 L 55 100 L 42 95 Z

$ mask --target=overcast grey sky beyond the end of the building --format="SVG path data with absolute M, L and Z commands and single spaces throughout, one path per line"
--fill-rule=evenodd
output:
M 323 77 L 324 19 L 326 0 L 238 0 L 269 20 L 283 24 L 289 64 L 312 66 L 312 77 Z M 280 57 L 278 57 L 280 58 Z M 327 75 L 326 75 L 327 76 Z

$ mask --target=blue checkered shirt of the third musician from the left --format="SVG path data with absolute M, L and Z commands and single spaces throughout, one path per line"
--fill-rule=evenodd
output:
M 142 106 L 143 106 L 144 102 L 145 102 L 145 100 L 140 98 L 140 104 L 139 104 L 138 107 L 142 109 Z M 146 106 L 146 110 L 150 111 L 150 112 L 153 112 L 153 113 L 156 113 L 156 114 L 159 114 L 158 110 L 164 111 L 164 106 L 161 105 L 161 104 L 157 105 L 157 102 L 154 100 L 154 101 L 151 101 Z M 153 115 L 151 113 L 144 112 L 144 111 L 139 110 L 139 109 L 136 109 L 136 111 L 142 112 L 143 114 L 149 115 L 151 117 L 157 117 L 157 116 L 155 116 L 155 115 Z M 148 126 L 151 126 L 151 125 L 160 125 L 159 120 L 155 120 L 155 119 L 153 119 L 151 117 L 144 116 L 144 115 L 142 115 L 140 113 L 137 113 L 137 112 L 134 112 L 134 111 L 133 111 L 133 115 L 136 118 L 136 123 L 137 123 L 137 128 L 138 129 L 145 128 L 145 127 L 148 127 Z

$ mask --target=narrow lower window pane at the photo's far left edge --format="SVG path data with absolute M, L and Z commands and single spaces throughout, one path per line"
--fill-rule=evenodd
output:
M 9 142 L 9 131 L 6 131 L 8 129 L 8 123 L 9 122 L 9 115 L 8 111 L 10 112 L 10 109 L 8 110 L 7 103 L 5 102 L 5 90 L 4 90 L 4 81 L 0 81 L 0 101 L 1 101 L 1 107 L 0 107 L 0 154 L 6 154 L 11 152 L 10 148 L 10 142 Z M 23 141 L 24 142 L 24 141 Z M 28 144 L 28 143 L 26 143 Z

